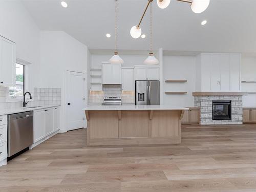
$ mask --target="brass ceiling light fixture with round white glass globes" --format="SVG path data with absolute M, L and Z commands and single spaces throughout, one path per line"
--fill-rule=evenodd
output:
M 210 0 L 177 0 L 179 2 L 185 2 L 185 3 L 189 3 L 191 6 L 191 10 L 194 13 L 202 13 L 204 12 L 207 7 L 210 4 Z M 148 0 L 148 3 L 146 5 L 146 8 L 142 14 L 142 17 L 140 19 L 140 22 L 137 26 L 133 26 L 130 30 L 130 34 L 133 38 L 139 38 L 141 35 L 141 28 L 140 28 L 140 24 L 142 22 L 142 19 L 146 13 L 146 10 L 148 8 L 148 6 L 153 2 L 153 0 Z M 170 4 L 170 0 L 157 0 L 157 5 L 159 8 L 161 9 L 165 9 L 166 7 L 168 7 Z

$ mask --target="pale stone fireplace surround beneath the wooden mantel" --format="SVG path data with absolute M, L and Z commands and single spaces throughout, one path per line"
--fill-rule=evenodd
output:
M 230 120 L 212 120 L 212 101 L 231 100 L 231 118 Z M 195 106 L 199 106 L 200 123 L 203 125 L 214 124 L 242 124 L 243 106 L 242 95 L 194 95 Z

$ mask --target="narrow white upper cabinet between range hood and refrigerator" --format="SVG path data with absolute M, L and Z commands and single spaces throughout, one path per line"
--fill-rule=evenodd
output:
M 122 91 L 134 91 L 134 68 L 122 68 Z

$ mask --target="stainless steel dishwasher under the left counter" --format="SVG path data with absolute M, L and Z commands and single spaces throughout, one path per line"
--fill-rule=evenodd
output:
M 33 111 L 7 116 L 8 120 L 8 157 L 33 144 Z

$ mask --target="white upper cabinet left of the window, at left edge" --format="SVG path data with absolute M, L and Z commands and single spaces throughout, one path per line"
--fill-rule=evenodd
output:
M 16 45 L 0 36 L 0 86 L 15 85 Z

